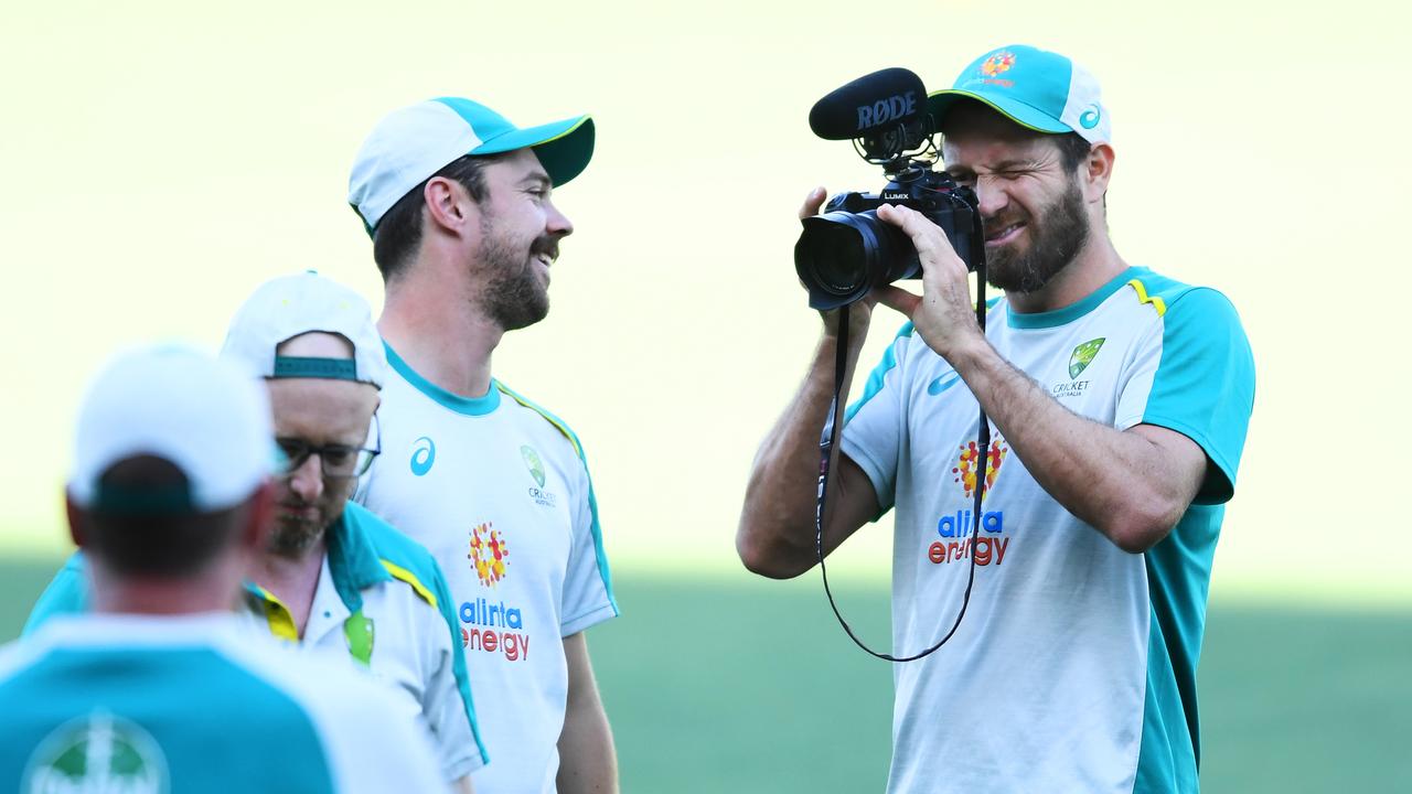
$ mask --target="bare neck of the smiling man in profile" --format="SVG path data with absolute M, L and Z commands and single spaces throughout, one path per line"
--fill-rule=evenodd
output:
M 432 257 L 387 287 L 377 329 L 417 374 L 460 397 L 490 391 L 490 359 L 504 331 L 487 318 L 465 275 Z

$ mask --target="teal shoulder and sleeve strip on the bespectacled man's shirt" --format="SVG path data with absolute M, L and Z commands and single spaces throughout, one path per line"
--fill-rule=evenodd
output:
M 432 598 L 428 603 L 433 603 L 436 610 L 441 612 L 442 620 L 446 623 L 446 630 L 450 633 L 452 667 L 456 674 L 456 688 L 460 691 L 460 699 L 466 706 L 466 719 L 470 721 L 470 732 L 476 736 L 476 747 L 480 750 L 481 763 L 490 763 L 490 754 L 486 752 L 486 743 L 480 736 L 480 723 L 476 721 L 476 704 L 470 694 L 466 654 L 459 653 L 463 643 L 460 622 L 456 617 L 456 602 L 450 595 L 450 586 L 446 583 L 446 576 L 442 574 L 441 565 L 436 564 L 436 558 L 432 557 L 432 552 L 426 551 L 426 547 L 402 534 L 361 504 L 350 502 L 343 509 L 343 521 L 353 530 L 350 534 L 356 534 L 366 541 L 374 559 L 383 567 L 384 576 L 407 583 L 424 599 L 426 599 L 426 593 L 431 593 Z M 387 565 L 394 565 L 400 571 L 388 571 Z M 412 581 L 400 575 L 401 572 L 408 574 Z

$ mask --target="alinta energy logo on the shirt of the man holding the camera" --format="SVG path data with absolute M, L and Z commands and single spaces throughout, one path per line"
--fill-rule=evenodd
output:
M 1004 466 L 1008 455 L 1010 446 L 1005 444 L 1004 437 L 995 434 L 995 439 L 991 441 L 984 455 L 986 490 L 981 493 L 981 503 L 990 499 L 995 478 L 1000 476 L 1001 466 Z M 962 486 L 962 496 L 971 506 L 976 502 L 976 482 L 980 478 L 981 461 L 980 448 L 971 441 L 960 448 L 956 466 L 952 468 L 952 473 L 956 475 L 953 482 Z M 986 510 L 981 513 L 981 534 L 979 538 L 971 537 L 974 524 L 976 514 L 971 513 L 970 507 L 963 507 L 956 510 L 955 514 L 938 519 L 936 534 L 942 540 L 932 541 L 926 547 L 928 561 L 933 565 L 950 564 L 960 559 L 970 559 L 970 555 L 974 552 L 976 565 L 1000 565 L 1005 559 L 1005 550 L 1010 548 L 1010 538 L 1003 537 L 1005 533 L 1004 510 Z

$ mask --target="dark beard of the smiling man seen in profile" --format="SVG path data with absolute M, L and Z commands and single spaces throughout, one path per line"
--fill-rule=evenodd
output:
M 481 218 L 481 267 L 487 274 L 480 290 L 480 308 L 504 331 L 531 326 L 549 315 L 549 290 L 539 281 L 538 254 L 559 259 L 559 240 L 539 236 L 525 244 L 500 232 L 493 219 Z

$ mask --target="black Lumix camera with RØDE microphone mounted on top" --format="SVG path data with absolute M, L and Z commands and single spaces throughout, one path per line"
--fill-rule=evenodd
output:
M 933 170 L 935 122 L 925 97 L 921 78 L 894 68 L 834 90 L 810 110 L 815 134 L 853 138 L 858 155 L 882 165 L 888 179 L 881 192 L 833 196 L 823 213 L 803 219 L 795 271 L 810 307 L 846 307 L 875 287 L 922 277 L 911 237 L 878 219 L 877 208 L 884 203 L 915 209 L 938 225 L 967 270 L 983 264 L 986 239 L 976 192 Z

